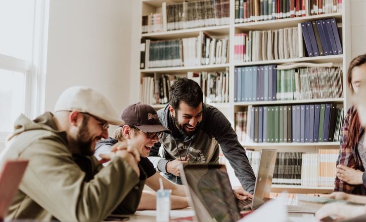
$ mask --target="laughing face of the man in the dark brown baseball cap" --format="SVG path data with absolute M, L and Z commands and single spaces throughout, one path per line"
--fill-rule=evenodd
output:
M 136 148 L 141 157 L 148 157 L 151 147 L 159 142 L 157 135 L 148 138 L 145 132 L 134 129 L 129 125 L 124 125 L 122 130 L 125 138 L 127 138 L 128 145 Z

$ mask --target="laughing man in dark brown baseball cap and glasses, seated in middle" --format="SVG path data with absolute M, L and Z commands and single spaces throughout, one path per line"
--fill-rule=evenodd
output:
M 103 156 L 103 153 L 109 153 L 114 144 L 127 142 L 133 147 L 136 147 L 140 154 L 141 161 L 138 164 L 147 175 L 146 185 L 156 191 L 160 188 L 159 179 L 162 179 L 164 188 L 172 190 L 172 209 L 188 207 L 184 187 L 170 183 L 157 173 L 153 164 L 147 158 L 150 148 L 159 141 L 162 133 L 172 133 L 169 129 L 161 125 L 154 108 L 147 104 L 136 103 L 130 105 L 122 112 L 121 119 L 124 120 L 125 124 L 116 129 L 113 138 L 109 137 L 106 140 L 98 142 L 94 155 L 100 159 L 100 155 Z M 156 194 L 144 190 L 138 205 L 138 210 L 155 209 Z

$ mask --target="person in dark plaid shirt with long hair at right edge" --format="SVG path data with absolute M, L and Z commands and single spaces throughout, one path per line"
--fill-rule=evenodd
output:
M 366 82 L 366 54 L 354 58 L 347 72 L 347 83 L 355 96 L 360 85 Z M 364 113 L 361 113 L 364 114 Z M 340 153 L 337 159 L 337 172 L 334 191 L 353 194 L 366 194 L 366 146 L 365 129 L 361 126 L 360 113 L 355 106 L 348 111 L 342 127 Z

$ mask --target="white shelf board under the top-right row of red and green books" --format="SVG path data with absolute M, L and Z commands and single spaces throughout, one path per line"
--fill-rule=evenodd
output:
M 305 21 L 328 19 L 328 18 L 335 18 L 336 20 L 339 21 L 342 19 L 342 13 L 330 13 L 330 14 L 312 15 L 312 16 L 304 16 L 304 17 L 295 17 L 295 18 L 275 19 L 275 20 L 267 20 L 267 21 L 260 21 L 260 22 L 237 23 L 234 25 L 234 27 L 237 31 L 244 31 L 244 32 L 249 31 L 249 30 L 253 30 L 253 31 L 254 30 L 275 30 L 275 29 L 282 29 L 282 28 L 287 28 L 287 27 L 297 27 L 298 23 L 305 22 Z

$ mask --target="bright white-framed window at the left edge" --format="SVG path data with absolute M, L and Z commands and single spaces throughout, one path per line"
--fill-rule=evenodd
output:
M 0 141 L 44 111 L 48 0 L 0 1 Z

